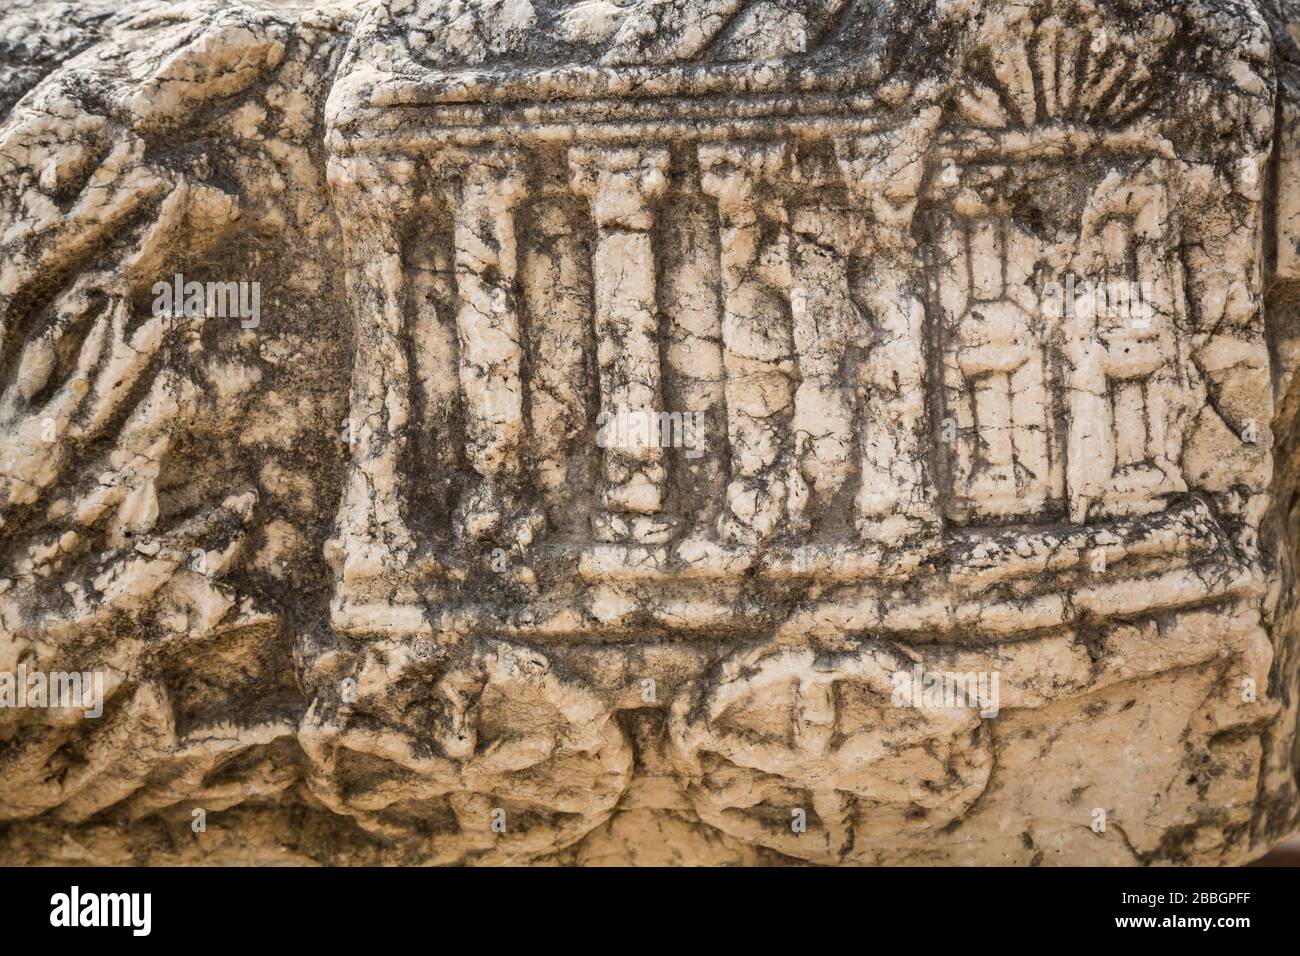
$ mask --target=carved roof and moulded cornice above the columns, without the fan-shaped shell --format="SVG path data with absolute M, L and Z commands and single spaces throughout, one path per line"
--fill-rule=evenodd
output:
M 655 121 L 681 113 L 676 98 L 708 112 L 710 98 L 725 96 L 720 116 L 744 124 L 737 94 L 754 116 L 815 113 L 818 95 L 836 99 L 824 105 L 864 112 L 845 95 L 878 87 L 901 40 L 924 40 L 897 25 L 915 30 L 941 16 L 935 0 L 386 0 L 358 25 L 329 117 L 335 129 L 374 129 L 390 125 L 376 111 L 526 104 L 536 109 L 511 118 L 545 126 L 549 104 L 586 100 L 566 122 L 607 120 L 610 101 L 614 113 L 619 101 L 640 103 L 638 114 Z M 940 49 L 928 59 L 948 57 Z M 785 101 L 764 105 L 764 98 Z M 504 118 L 472 109 L 445 116 L 465 126 Z

